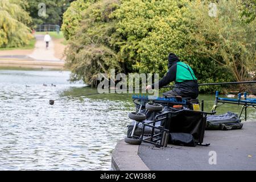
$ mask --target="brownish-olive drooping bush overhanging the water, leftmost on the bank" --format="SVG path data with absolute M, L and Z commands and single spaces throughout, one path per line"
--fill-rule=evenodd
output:
M 84 11 L 81 27 L 77 27 L 66 51 L 66 66 L 73 73 L 72 80 L 82 79 L 95 86 L 98 73 L 108 74 L 112 68 L 121 71 L 115 49 L 117 23 L 109 17 L 117 6 L 118 1 L 104 0 Z

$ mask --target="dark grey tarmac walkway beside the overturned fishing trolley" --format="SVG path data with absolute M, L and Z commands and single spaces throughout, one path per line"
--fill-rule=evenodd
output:
M 143 142 L 138 154 L 150 170 L 256 170 L 256 122 L 242 130 L 205 131 L 204 142 L 210 146 L 162 149 Z M 217 154 L 216 165 L 209 164 L 210 151 Z

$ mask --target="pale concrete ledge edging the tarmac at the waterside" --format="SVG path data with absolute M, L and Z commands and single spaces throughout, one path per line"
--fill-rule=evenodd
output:
M 114 171 L 150 171 L 138 155 L 138 145 L 131 145 L 121 140 L 112 154 L 111 167 Z

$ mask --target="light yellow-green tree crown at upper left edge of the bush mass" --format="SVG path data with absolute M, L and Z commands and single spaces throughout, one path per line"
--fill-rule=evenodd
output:
M 63 15 L 63 24 L 61 30 L 63 31 L 66 40 L 76 34 L 80 27 L 80 22 L 88 6 L 92 4 L 93 0 L 77 0 L 71 3 L 71 6 L 65 11 Z

